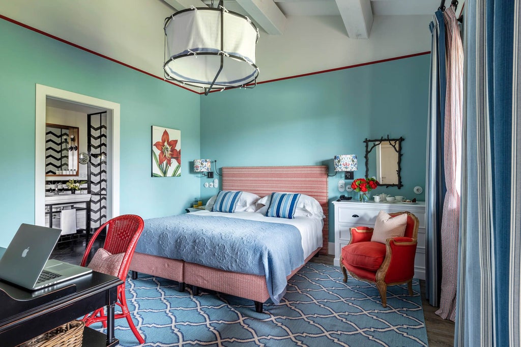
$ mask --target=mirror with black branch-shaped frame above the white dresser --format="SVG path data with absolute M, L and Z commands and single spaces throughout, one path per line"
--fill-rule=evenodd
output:
M 402 158 L 402 141 L 400 139 L 379 140 L 365 139 L 365 177 L 376 177 L 380 185 L 402 188 L 400 175 Z

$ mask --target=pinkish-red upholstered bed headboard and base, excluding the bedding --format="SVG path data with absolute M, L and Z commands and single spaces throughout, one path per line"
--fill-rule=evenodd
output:
M 246 191 L 261 197 L 272 192 L 301 193 L 311 196 L 318 201 L 326 216 L 322 220 L 323 224 L 318 227 L 319 229 L 321 227 L 321 230 L 318 232 L 321 233 L 319 237 L 321 236 L 322 242 L 315 243 L 316 247 L 313 247 L 313 249 L 309 249 L 310 246 L 308 245 L 306 250 L 304 241 L 302 241 L 304 259 L 299 264 L 291 264 L 291 268 L 286 272 L 289 273 L 286 276 L 286 281 L 316 253 L 328 253 L 326 166 L 224 167 L 222 168 L 221 189 L 224 191 Z M 195 214 L 203 217 L 208 215 L 208 212 L 203 211 Z M 232 218 L 242 218 L 237 213 L 227 215 L 227 217 L 232 217 L 231 215 L 233 215 Z M 257 213 L 257 215 L 259 214 Z M 195 218 L 195 216 L 179 217 L 178 219 Z M 262 217 L 255 216 L 253 219 L 262 219 Z M 184 290 L 185 284 L 189 284 L 192 286 L 194 295 L 197 295 L 202 288 L 253 300 L 257 312 L 263 311 L 263 303 L 266 300 L 269 298 L 274 299 L 271 279 L 268 279 L 267 282 L 266 274 L 257 275 L 255 273 L 230 271 L 212 266 L 211 264 L 208 266 L 208 262 L 204 263 L 197 261 L 197 259 L 189 258 L 189 260 L 172 259 L 169 256 L 136 252 L 130 269 L 133 277 L 136 276 L 136 272 L 142 272 L 177 281 L 179 282 L 180 291 Z M 277 300 L 273 300 L 274 302 L 278 301 L 278 298 L 275 299 Z

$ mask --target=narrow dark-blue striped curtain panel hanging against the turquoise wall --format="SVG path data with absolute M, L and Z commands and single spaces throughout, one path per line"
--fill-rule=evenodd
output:
M 445 22 L 436 11 L 429 29 L 432 33 L 430 53 L 429 118 L 427 121 L 426 187 L 426 280 L 425 292 L 432 306 L 439 306 L 441 290 L 441 212 L 445 196 L 443 171 L 443 122 L 445 118 Z

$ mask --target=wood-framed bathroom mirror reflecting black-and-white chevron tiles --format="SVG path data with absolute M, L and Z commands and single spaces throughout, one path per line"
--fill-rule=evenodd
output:
M 45 176 L 78 176 L 79 129 L 45 123 Z

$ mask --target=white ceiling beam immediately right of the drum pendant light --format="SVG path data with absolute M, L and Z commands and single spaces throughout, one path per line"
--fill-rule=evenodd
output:
M 286 16 L 273 0 L 237 0 L 237 3 L 268 34 L 282 35 L 284 32 Z

